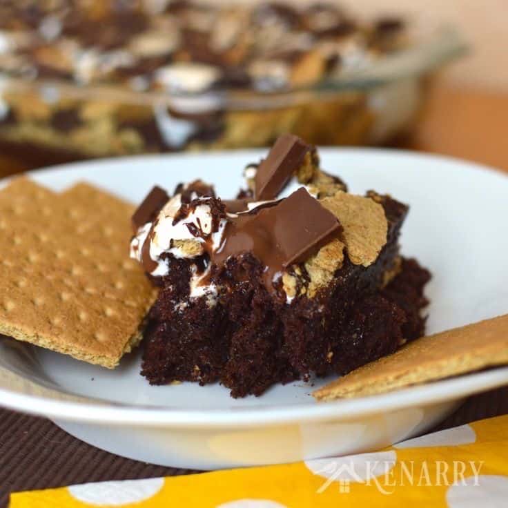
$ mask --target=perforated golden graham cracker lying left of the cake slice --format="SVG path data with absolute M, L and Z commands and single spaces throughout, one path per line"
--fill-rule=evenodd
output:
M 0 190 L 0 333 L 114 368 L 155 290 L 128 257 L 133 206 L 88 184 Z

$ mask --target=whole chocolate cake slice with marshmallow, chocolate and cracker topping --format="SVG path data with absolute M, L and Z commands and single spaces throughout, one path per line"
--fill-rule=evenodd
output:
M 430 274 L 399 253 L 406 205 L 347 192 L 293 135 L 244 175 L 237 199 L 201 181 L 173 197 L 155 188 L 133 216 L 131 255 L 160 288 L 144 340 L 150 383 L 261 395 L 342 375 L 424 333 Z

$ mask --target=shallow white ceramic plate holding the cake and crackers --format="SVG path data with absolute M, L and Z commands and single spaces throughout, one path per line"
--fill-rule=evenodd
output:
M 55 190 L 85 179 L 133 202 L 153 184 L 172 189 L 202 177 L 228 197 L 242 183 L 242 168 L 262 153 L 85 162 L 33 177 Z M 402 251 L 433 273 L 429 332 L 508 312 L 507 177 L 453 159 L 390 150 L 323 149 L 321 154 L 322 166 L 343 177 L 353 192 L 374 188 L 411 204 Z M 233 400 L 219 385 L 150 387 L 139 375 L 139 353 L 107 371 L 0 340 L 1 405 L 47 416 L 74 436 L 122 456 L 202 469 L 382 447 L 429 428 L 466 395 L 508 383 L 508 368 L 318 404 L 310 393 L 326 381 L 296 382 L 260 398 Z

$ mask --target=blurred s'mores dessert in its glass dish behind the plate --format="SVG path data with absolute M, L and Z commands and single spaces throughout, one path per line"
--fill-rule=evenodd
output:
M 393 12 L 3 0 L 0 153 L 35 168 L 267 146 L 284 132 L 321 145 L 393 142 L 418 120 L 436 72 L 465 50 L 450 26 Z

